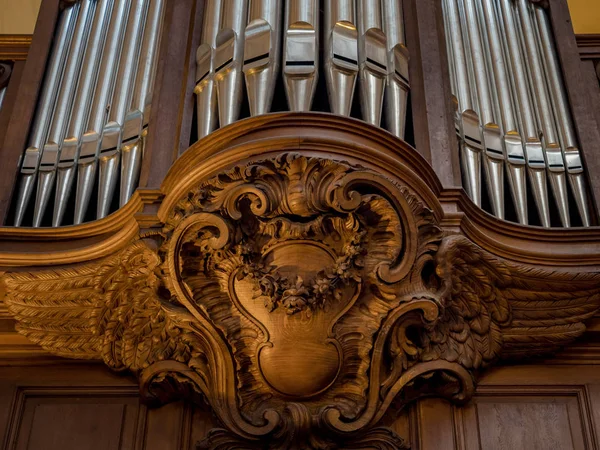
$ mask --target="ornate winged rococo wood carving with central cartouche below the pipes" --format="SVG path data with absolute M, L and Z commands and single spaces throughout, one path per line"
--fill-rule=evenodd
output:
M 174 205 L 118 254 L 5 274 L 5 302 L 148 400 L 207 401 L 222 428 L 200 448 L 404 448 L 391 407 L 466 401 L 482 369 L 560 348 L 600 307 L 598 273 L 494 256 L 340 158 L 254 157 Z

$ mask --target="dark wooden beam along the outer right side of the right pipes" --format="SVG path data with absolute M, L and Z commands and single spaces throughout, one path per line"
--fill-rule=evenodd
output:
M 561 62 L 567 95 L 571 103 L 573 122 L 579 138 L 582 157 L 587 169 L 592 203 L 598 217 L 600 211 L 600 130 L 590 92 L 597 92 L 597 84 L 590 84 L 584 75 L 569 5 L 567 0 L 549 0 L 550 18 L 558 57 Z

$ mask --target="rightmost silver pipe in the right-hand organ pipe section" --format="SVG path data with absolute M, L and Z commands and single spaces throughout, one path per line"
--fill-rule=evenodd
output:
M 573 127 L 573 119 L 569 111 L 569 102 L 564 90 L 559 63 L 554 49 L 552 29 L 546 12 L 539 6 L 531 6 L 537 20 L 539 30 L 540 49 L 546 68 L 550 93 L 554 105 L 554 113 L 558 123 L 559 137 L 562 144 L 564 159 L 569 182 L 575 197 L 577 209 L 584 226 L 591 225 L 590 212 L 583 172 L 583 163 L 577 146 L 577 138 Z

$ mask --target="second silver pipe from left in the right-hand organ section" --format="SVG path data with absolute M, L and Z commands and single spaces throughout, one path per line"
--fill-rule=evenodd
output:
M 464 0 L 464 24 L 468 36 L 467 48 L 470 50 L 470 66 L 474 88 L 472 96 L 477 99 L 479 117 L 483 126 L 483 158 L 487 178 L 487 187 L 496 217 L 504 218 L 504 164 L 505 154 L 502 147 L 502 133 L 494 111 L 494 99 L 489 85 L 488 67 L 476 0 Z

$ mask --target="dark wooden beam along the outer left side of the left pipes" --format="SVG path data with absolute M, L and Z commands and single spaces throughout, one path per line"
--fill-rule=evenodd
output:
M 0 141 L 0 224 L 6 223 L 17 179 L 17 166 L 29 135 L 44 79 L 46 60 L 50 52 L 60 0 L 43 0 L 35 25 L 33 41 L 23 68 L 11 118 L 4 140 Z

